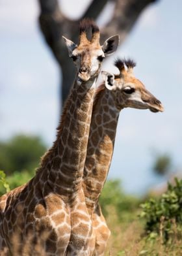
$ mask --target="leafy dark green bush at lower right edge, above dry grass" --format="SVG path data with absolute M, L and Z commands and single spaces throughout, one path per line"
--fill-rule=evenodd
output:
M 182 229 L 182 180 L 175 178 L 175 185 L 168 184 L 166 193 L 159 199 L 149 199 L 141 205 L 140 217 L 146 220 L 146 231 L 151 237 L 160 234 L 164 242 Z

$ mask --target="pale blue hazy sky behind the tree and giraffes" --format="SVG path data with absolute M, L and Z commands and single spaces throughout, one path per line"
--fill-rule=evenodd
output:
M 72 3 L 72 5 L 70 5 Z M 77 18 L 89 2 L 60 1 Z M 99 25 L 112 6 L 105 8 Z M 163 179 L 153 175 L 153 152 L 168 152 L 174 169 L 182 167 L 182 2 L 158 1 L 140 16 L 118 52 L 103 65 L 116 71 L 114 58 L 133 57 L 135 75 L 164 105 L 163 113 L 125 109 L 120 114 L 110 178 L 120 178 L 125 191 L 142 193 Z M 38 28 L 38 4 L 1 0 L 0 9 L 0 139 L 16 133 L 38 134 L 47 145 L 59 121 L 59 68 Z

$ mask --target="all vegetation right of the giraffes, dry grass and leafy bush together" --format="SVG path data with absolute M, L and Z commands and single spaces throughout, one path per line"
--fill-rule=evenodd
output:
M 105 255 L 182 255 L 181 185 L 182 180 L 176 180 L 157 199 L 137 199 L 125 195 L 118 180 L 109 180 L 99 200 L 111 231 Z

